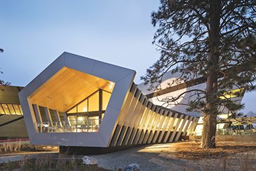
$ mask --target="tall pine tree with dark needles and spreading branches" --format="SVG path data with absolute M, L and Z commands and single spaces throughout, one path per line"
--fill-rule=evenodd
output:
M 236 95 L 255 89 L 255 21 L 253 0 L 161 0 L 158 11 L 152 13 L 152 25 L 157 27 L 153 43 L 161 56 L 141 78 L 150 88 L 172 69 L 181 73 L 183 81 L 205 78 L 205 90 L 190 90 L 197 98 L 188 107 L 204 114 L 204 149 L 215 148 L 220 106 L 230 111 L 243 107 L 220 97 L 234 88 L 240 90 Z

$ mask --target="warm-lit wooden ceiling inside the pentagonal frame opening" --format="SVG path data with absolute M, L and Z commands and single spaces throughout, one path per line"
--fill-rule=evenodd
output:
M 67 111 L 98 89 L 113 91 L 115 83 L 63 67 L 30 97 L 32 104 Z

